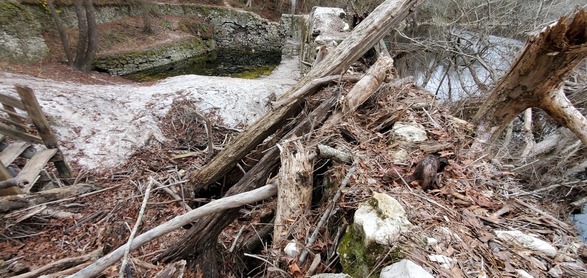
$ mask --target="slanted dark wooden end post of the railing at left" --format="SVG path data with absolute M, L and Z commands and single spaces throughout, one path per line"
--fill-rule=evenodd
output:
M 49 123 L 45 118 L 45 114 L 43 114 L 43 110 L 41 109 L 39 101 L 37 101 L 35 93 L 33 93 L 33 90 L 29 87 L 22 86 L 19 84 L 16 84 L 15 88 L 16 92 L 21 97 L 21 102 L 23 106 L 29 114 L 29 118 L 31 118 L 31 121 L 35 125 L 39 135 L 41 135 L 43 143 L 45 143 L 45 145 L 50 149 L 55 148 L 59 150 L 59 143 L 57 142 L 57 139 L 55 138 L 53 132 L 51 131 L 51 128 L 49 127 Z M 72 176 L 72 171 L 69 168 L 67 161 L 65 161 L 65 158 L 63 158 L 60 161 L 55 161 L 53 163 L 55 164 L 55 168 L 62 177 L 69 178 Z

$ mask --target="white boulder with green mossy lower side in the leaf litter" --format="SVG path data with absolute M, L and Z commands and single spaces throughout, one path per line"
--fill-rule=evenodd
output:
M 396 199 L 374 192 L 373 198 L 359 205 L 355 223 L 340 240 L 337 252 L 343 269 L 352 277 L 368 277 L 385 248 L 410 227 L 406 212 Z M 390 260 L 397 259 L 397 251 L 390 253 Z

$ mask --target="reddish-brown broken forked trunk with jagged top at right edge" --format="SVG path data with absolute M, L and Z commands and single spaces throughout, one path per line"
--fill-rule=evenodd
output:
M 587 120 L 566 99 L 564 81 L 587 56 L 587 13 L 563 16 L 538 36 L 528 38 L 518 59 L 485 100 L 474 123 L 476 141 L 471 148 L 484 151 L 522 111 L 538 107 L 587 145 Z

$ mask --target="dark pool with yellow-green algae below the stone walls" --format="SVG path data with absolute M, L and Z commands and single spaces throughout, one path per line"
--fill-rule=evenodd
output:
M 184 74 L 254 79 L 269 75 L 280 62 L 281 52 L 211 52 L 124 77 L 139 82 Z

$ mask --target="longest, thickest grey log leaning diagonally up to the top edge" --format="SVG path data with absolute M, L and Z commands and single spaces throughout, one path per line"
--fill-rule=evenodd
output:
M 280 98 L 280 100 L 295 99 L 296 101 L 290 101 L 278 109 L 268 111 L 247 130 L 240 133 L 233 143 L 195 172 L 191 177 L 194 181 L 193 186 L 196 189 L 206 188 L 220 179 L 249 151 L 281 127 L 288 118 L 295 116 L 300 110 L 303 99 L 313 93 L 313 91 L 301 90 L 306 84 L 323 76 L 342 73 L 382 39 L 390 27 L 402 22 L 423 2 L 423 0 L 387 0 L 377 6 L 363 24 L 357 26 L 348 38 L 326 56 L 326 59 L 313 67 L 302 80 Z

